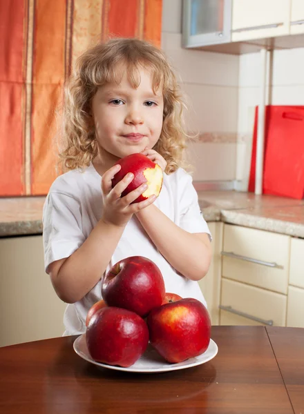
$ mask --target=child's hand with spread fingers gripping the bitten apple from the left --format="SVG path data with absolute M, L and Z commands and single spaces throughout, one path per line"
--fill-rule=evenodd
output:
M 113 166 L 107 170 L 102 176 L 102 196 L 104 199 L 104 208 L 102 212 L 102 220 L 106 223 L 114 224 L 115 226 L 125 226 L 134 213 L 149 206 L 155 201 L 155 196 L 152 195 L 149 199 L 140 201 L 140 203 L 131 204 L 146 190 L 146 184 L 135 188 L 131 193 L 121 197 L 122 192 L 131 183 L 134 176 L 127 174 L 124 178 L 112 188 L 111 179 L 120 170 L 120 165 Z

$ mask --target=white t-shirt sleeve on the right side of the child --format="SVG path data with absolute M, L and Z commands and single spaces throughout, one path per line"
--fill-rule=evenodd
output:
M 182 171 L 178 186 L 180 186 L 180 227 L 189 233 L 207 233 L 211 241 L 212 236 L 200 210 L 198 193 L 192 184 L 191 175 Z

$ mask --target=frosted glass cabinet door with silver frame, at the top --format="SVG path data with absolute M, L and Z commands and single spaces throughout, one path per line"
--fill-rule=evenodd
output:
M 231 40 L 231 0 L 184 0 L 183 46 L 191 48 Z

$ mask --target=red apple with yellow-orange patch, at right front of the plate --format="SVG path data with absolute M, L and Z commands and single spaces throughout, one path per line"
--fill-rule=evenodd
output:
M 180 299 L 153 309 L 146 323 L 152 346 L 168 362 L 196 357 L 209 346 L 209 313 L 197 299 Z

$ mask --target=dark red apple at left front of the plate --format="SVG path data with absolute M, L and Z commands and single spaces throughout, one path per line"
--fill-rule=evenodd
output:
M 148 342 L 144 319 L 114 306 L 99 309 L 86 328 L 88 352 L 103 364 L 131 366 L 146 351 Z

